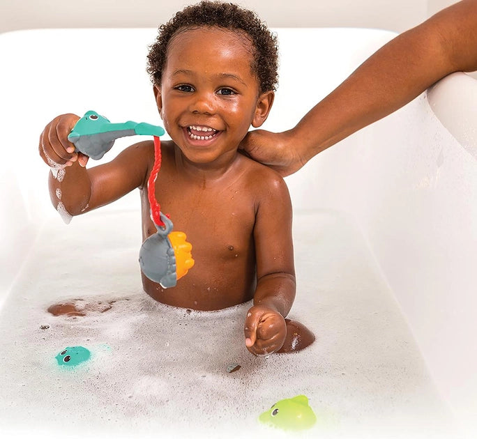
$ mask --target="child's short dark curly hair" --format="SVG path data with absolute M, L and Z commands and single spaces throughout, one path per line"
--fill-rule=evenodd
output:
M 156 43 L 149 48 L 147 72 L 153 84 L 160 84 L 167 60 L 169 43 L 179 29 L 220 27 L 243 31 L 254 47 L 252 71 L 256 73 L 260 93 L 275 91 L 278 83 L 278 42 L 266 24 L 251 10 L 233 3 L 201 1 L 176 13 L 169 22 L 159 26 Z

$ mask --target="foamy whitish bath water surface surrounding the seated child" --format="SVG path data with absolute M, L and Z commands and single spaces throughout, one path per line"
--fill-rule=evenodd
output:
M 66 231 L 43 229 L 0 314 L 3 430 L 18 436 L 28 422 L 49 438 L 281 438 L 257 417 L 305 394 L 318 422 L 298 438 L 450 437 L 414 339 L 347 217 L 295 216 L 290 317 L 317 340 L 259 358 L 243 337 L 250 303 L 191 311 L 142 291 L 139 225 L 125 233 L 138 216 L 92 213 Z M 84 317 L 49 314 L 59 301 L 98 306 Z M 84 346 L 91 359 L 59 367 L 66 346 Z

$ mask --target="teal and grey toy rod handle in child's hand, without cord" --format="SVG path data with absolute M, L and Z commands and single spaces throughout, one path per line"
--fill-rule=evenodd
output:
M 163 128 L 144 122 L 111 123 L 96 111 L 86 111 L 77 121 L 73 131 L 68 134 L 68 140 L 75 144 L 76 151 L 99 160 L 112 148 L 114 140 L 119 137 L 137 134 L 162 136 L 164 132 Z

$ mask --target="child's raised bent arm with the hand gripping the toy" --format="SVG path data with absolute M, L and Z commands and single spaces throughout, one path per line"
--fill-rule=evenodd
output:
M 49 188 L 52 203 L 63 203 L 70 215 L 104 206 L 136 187 L 141 187 L 153 155 L 152 148 L 136 144 L 126 148 L 112 162 L 86 169 L 87 158 L 74 153 L 68 134 L 79 119 L 73 114 L 54 118 L 40 136 L 40 156 L 52 169 Z M 59 196 L 61 194 L 61 196 Z

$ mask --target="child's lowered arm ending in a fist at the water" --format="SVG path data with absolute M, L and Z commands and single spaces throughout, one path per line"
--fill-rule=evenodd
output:
M 259 201 L 254 238 L 257 289 L 245 318 L 245 346 L 255 355 L 268 355 L 285 341 L 285 316 L 296 292 L 292 203 L 285 181 L 276 174 Z

